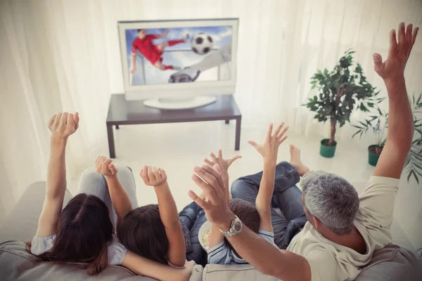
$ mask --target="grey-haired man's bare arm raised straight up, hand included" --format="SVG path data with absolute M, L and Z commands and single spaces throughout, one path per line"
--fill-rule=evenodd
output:
M 404 68 L 411 53 L 418 27 L 404 22 L 399 25 L 398 43 L 396 32 L 390 32 L 390 50 L 388 58 L 383 62 L 381 55 L 373 54 L 375 71 L 383 78 L 388 91 L 388 135 L 373 176 L 400 178 L 404 164 L 411 148 L 414 133 L 414 121 L 407 97 Z

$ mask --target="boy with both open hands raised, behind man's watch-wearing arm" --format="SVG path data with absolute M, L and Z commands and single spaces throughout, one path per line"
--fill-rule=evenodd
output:
M 274 176 L 276 171 L 279 145 L 281 145 L 281 143 L 283 143 L 283 141 L 285 141 L 287 138 L 287 136 L 284 136 L 284 133 L 286 133 L 288 130 L 288 126 L 283 128 L 283 125 L 283 123 L 280 124 L 273 135 L 271 134 L 271 124 L 267 132 L 267 138 L 262 145 L 257 145 L 257 143 L 252 141 L 249 142 L 250 145 L 252 145 L 264 159 L 264 171 L 260 183 L 260 190 L 255 201 L 255 206 L 246 200 L 229 200 L 228 169 L 233 160 L 222 159 L 221 150 L 219 150 L 217 157 L 215 157 L 213 154 L 210 154 L 212 157 L 212 162 L 210 160 L 204 159 L 204 161 L 209 165 L 219 165 L 220 172 L 224 181 L 224 187 L 226 189 L 224 195 L 226 196 L 226 202 L 229 204 L 231 211 L 233 211 L 233 213 L 238 216 L 244 226 L 247 226 L 250 228 L 250 230 L 264 238 L 264 240 L 267 240 L 267 242 L 273 244 L 274 247 L 276 247 L 276 244 L 274 244 L 274 233 L 271 225 L 271 198 L 274 192 Z M 215 225 L 212 225 L 210 231 L 209 246 L 210 249 L 208 249 L 208 263 L 247 263 L 244 259 L 242 259 L 241 256 L 236 253 L 233 247 L 231 247 L 231 244 L 229 244 L 229 242 L 224 239 L 221 231 Z

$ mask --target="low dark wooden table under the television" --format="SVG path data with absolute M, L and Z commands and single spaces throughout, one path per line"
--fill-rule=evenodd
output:
M 229 124 L 232 119 L 236 120 L 234 149 L 239 150 L 241 145 L 242 114 L 231 95 L 218 96 L 215 103 L 189 110 L 158 110 L 146 107 L 143 105 L 143 100 L 126 100 L 124 95 L 113 94 L 110 98 L 106 122 L 110 158 L 116 157 L 113 126 L 119 129 L 120 125 L 217 120 L 225 120 L 226 124 Z

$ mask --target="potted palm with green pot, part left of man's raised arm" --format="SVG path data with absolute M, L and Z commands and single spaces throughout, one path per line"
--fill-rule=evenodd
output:
M 377 92 L 375 95 L 378 95 Z M 384 100 L 384 98 L 376 98 L 375 100 L 378 103 Z M 370 115 L 368 119 L 365 119 L 364 122 L 359 122 L 358 125 L 352 125 L 358 130 L 356 133 L 353 134 L 354 136 L 359 135 L 362 138 L 362 134 L 368 132 L 369 130 L 373 132 L 375 136 L 375 144 L 369 145 L 368 147 L 368 162 L 372 166 L 376 166 L 378 163 L 378 158 L 383 151 L 384 144 L 387 138 L 386 131 L 388 128 L 388 113 L 385 110 L 381 110 L 381 108 L 376 106 L 376 113 L 374 115 Z

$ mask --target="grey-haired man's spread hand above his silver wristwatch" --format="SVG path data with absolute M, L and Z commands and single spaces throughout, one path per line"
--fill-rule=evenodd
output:
M 189 190 L 188 195 L 204 209 L 208 221 L 222 230 L 229 230 L 235 216 L 226 204 L 222 175 L 215 168 L 217 165 L 214 168 L 203 165 L 202 168 L 196 166 L 193 169 L 195 174 L 192 180 L 205 192 L 207 199 L 201 199 L 192 190 Z

